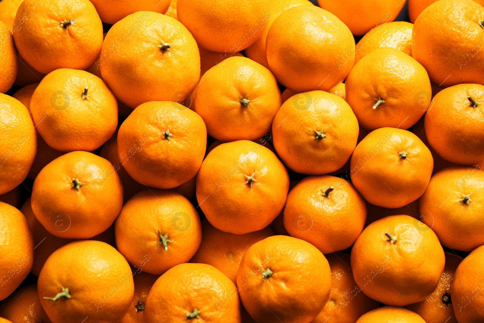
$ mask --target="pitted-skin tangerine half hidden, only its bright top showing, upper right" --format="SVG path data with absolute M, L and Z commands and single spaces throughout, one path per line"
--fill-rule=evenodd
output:
M 392 47 L 412 56 L 412 29 L 413 24 L 407 21 L 393 21 L 372 28 L 356 44 L 355 64 L 382 47 Z

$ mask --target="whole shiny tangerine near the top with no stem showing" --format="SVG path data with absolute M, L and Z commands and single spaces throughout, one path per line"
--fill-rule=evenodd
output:
M 267 60 L 280 83 L 292 92 L 329 91 L 347 76 L 355 40 L 335 15 L 317 6 L 296 6 L 272 23 Z

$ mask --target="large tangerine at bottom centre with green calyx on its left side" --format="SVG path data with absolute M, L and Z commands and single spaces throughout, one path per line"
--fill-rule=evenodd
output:
M 247 250 L 237 287 L 243 307 L 257 323 L 309 323 L 329 298 L 331 270 L 315 246 L 274 235 Z

